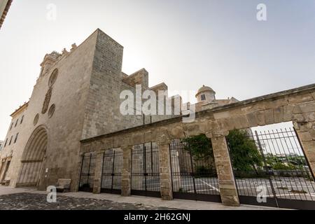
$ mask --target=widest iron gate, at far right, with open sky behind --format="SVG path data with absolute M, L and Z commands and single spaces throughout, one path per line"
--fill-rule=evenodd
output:
M 252 165 L 252 169 L 235 168 L 236 151 L 244 142 L 235 144 L 233 141 L 231 146 L 232 140 L 229 137 L 227 140 L 241 204 L 315 209 L 314 176 L 295 130 L 289 128 L 246 134 L 244 142 L 250 142 L 261 159 L 261 162 Z

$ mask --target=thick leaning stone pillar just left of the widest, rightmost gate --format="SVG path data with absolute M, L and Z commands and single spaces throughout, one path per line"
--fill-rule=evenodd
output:
M 216 172 L 218 173 L 218 184 L 222 203 L 226 206 L 239 206 L 239 195 L 235 184 L 230 154 L 225 136 L 211 137 L 214 149 L 214 160 Z

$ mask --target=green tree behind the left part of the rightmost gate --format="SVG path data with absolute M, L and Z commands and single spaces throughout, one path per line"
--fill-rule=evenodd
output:
M 239 171 L 255 170 L 258 174 L 258 168 L 262 167 L 262 155 L 255 145 L 255 141 L 248 137 L 246 131 L 230 131 L 227 141 L 233 168 Z

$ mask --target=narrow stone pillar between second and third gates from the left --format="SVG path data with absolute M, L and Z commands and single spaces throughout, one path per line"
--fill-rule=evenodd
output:
M 130 196 L 131 193 L 131 156 L 132 146 L 122 147 L 123 150 L 123 172 L 121 179 L 121 195 Z

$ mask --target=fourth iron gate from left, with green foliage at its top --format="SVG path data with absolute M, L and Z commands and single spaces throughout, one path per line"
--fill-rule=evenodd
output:
M 172 143 L 169 151 L 174 198 L 221 202 L 211 146 L 205 152 L 207 159 L 194 155 L 190 146 L 181 142 Z

